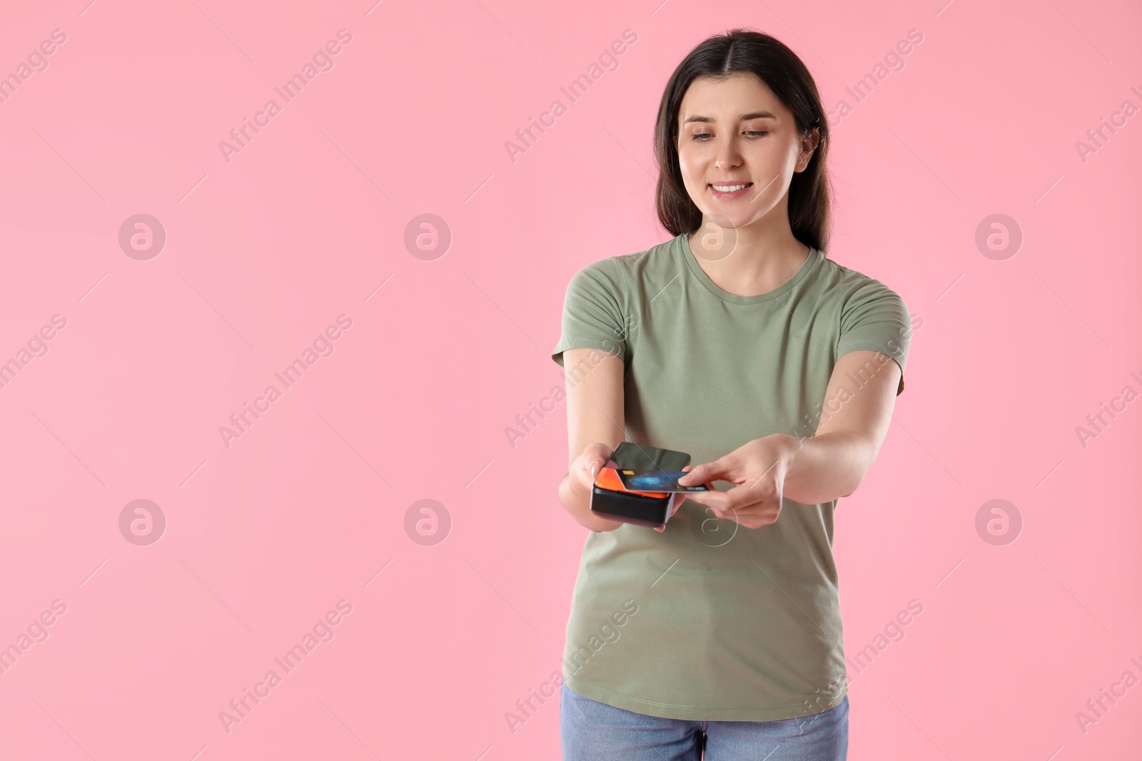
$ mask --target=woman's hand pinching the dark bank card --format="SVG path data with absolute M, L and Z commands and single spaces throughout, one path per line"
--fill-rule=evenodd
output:
M 678 479 L 682 486 L 706 484 L 709 492 L 686 492 L 686 499 L 701 502 L 718 518 L 737 520 L 747 528 L 761 528 L 781 515 L 781 494 L 786 473 L 797 451 L 797 438 L 773 434 L 742 444 L 733 452 L 694 467 Z M 726 492 L 713 491 L 711 481 L 737 484 Z

